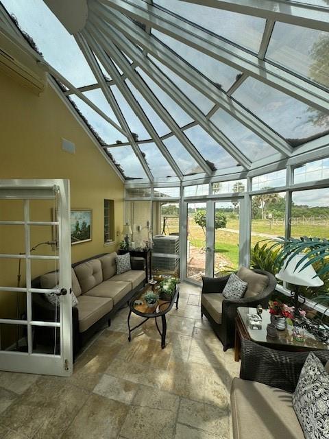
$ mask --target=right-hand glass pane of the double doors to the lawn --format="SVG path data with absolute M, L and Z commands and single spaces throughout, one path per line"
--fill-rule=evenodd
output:
M 215 202 L 214 276 L 239 268 L 240 202 Z

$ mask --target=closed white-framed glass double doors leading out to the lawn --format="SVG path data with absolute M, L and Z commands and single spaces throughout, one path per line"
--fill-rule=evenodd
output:
M 243 215 L 243 197 L 184 202 L 181 217 L 185 222 L 181 228 L 184 280 L 200 283 L 202 276 L 223 276 L 238 268 L 243 261 Z

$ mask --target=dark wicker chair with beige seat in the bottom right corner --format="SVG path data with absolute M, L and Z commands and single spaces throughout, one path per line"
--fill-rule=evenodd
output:
M 240 378 L 231 384 L 233 438 L 304 439 L 293 392 L 309 352 L 276 351 L 250 340 L 241 344 Z M 329 351 L 313 353 L 324 365 L 329 359 Z

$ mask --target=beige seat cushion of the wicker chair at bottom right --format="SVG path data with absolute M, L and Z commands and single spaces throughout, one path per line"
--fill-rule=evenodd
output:
M 304 439 L 292 396 L 265 384 L 234 378 L 231 387 L 234 439 Z

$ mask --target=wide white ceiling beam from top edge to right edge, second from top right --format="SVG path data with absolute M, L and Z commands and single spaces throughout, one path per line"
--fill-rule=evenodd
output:
M 134 0 L 134 3 L 129 0 L 98 0 L 98 3 L 92 3 L 90 7 L 94 7 L 94 5 L 101 7 L 101 4 L 104 6 L 103 14 L 107 18 L 111 16 L 110 18 L 113 20 L 113 9 L 116 9 L 220 62 L 230 65 L 234 69 L 243 71 L 253 78 L 299 99 L 311 107 L 324 112 L 329 111 L 329 94 L 321 88 L 297 78 L 280 67 L 259 60 L 257 56 L 249 54 L 223 38 L 213 36 L 206 30 L 187 23 L 184 19 L 148 5 L 143 0 Z

